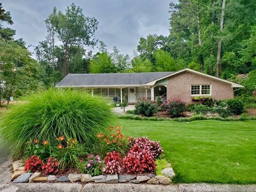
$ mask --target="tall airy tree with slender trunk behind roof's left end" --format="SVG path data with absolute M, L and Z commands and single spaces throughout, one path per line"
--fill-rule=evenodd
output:
M 81 7 L 72 3 L 67 7 L 65 13 L 58 12 L 55 14 L 56 8 L 49 16 L 48 20 L 56 20 L 51 23 L 58 33 L 58 39 L 63 44 L 63 76 L 68 74 L 68 66 L 71 58 L 71 49 L 76 46 L 78 50 L 80 47 L 93 47 L 97 43 L 94 34 L 98 29 L 98 21 L 95 18 L 85 17 Z

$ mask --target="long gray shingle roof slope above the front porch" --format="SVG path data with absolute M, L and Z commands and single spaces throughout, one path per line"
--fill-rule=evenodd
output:
M 143 85 L 149 81 L 173 72 L 116 73 L 116 74 L 68 74 L 57 87 L 97 86 L 97 85 Z

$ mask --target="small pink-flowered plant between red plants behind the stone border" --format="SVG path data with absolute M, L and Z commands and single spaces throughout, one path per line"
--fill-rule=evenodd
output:
M 92 176 L 102 173 L 103 164 L 99 155 L 88 155 L 84 162 L 81 162 L 79 171 Z

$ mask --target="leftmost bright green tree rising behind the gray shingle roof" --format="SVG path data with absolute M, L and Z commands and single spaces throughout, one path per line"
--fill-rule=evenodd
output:
M 116 73 L 116 68 L 106 52 L 97 53 L 90 62 L 90 73 Z

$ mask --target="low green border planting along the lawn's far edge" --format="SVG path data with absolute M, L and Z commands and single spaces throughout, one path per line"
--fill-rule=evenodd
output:
M 254 116 L 245 116 L 241 115 L 238 118 L 234 117 L 205 117 L 203 115 L 195 115 L 192 117 L 179 117 L 179 118 L 163 118 L 163 117 L 142 117 L 140 115 L 121 115 L 118 116 L 119 119 L 132 119 L 139 121 L 177 121 L 177 122 L 192 122 L 199 120 L 217 120 L 217 121 L 247 121 L 247 120 L 256 120 Z

